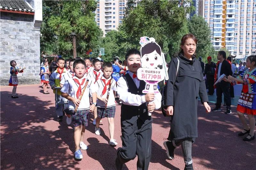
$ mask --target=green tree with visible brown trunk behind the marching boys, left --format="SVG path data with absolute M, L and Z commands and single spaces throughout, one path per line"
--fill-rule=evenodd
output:
M 95 22 L 96 1 L 58 1 L 56 15 L 49 18 L 48 25 L 58 37 L 59 50 L 76 58 L 90 48 L 99 50 L 99 38 L 103 35 Z M 97 54 L 97 53 L 96 53 Z

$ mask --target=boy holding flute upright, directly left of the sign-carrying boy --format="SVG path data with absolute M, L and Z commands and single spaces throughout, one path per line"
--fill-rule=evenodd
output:
M 102 66 L 102 77 L 97 81 L 98 92 L 97 92 L 97 118 L 95 134 L 100 135 L 100 120 L 104 117 L 108 118 L 108 129 L 110 134 L 109 144 L 112 146 L 117 145 L 114 139 L 114 117 L 116 112 L 116 81 L 111 78 L 113 67 L 111 63 L 104 63 Z M 110 82 L 111 81 L 111 82 Z M 110 86 L 110 89 L 109 89 Z M 108 90 L 110 90 L 108 92 Z M 109 93 L 109 96 L 108 96 Z M 108 98 L 107 98 L 108 96 Z

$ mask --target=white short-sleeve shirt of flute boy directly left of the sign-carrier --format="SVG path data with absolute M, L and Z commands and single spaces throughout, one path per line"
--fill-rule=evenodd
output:
M 103 91 L 103 88 L 105 86 L 104 82 L 102 81 L 102 79 L 105 79 L 106 78 L 104 76 L 102 76 L 97 82 L 96 82 L 96 87 L 97 87 L 97 95 L 101 96 L 102 94 L 102 91 Z M 108 78 L 108 80 L 106 80 L 106 84 L 108 83 L 108 81 L 110 80 L 110 78 Z M 107 91 L 106 93 L 101 96 L 102 98 L 107 98 L 107 94 L 108 94 L 108 88 L 109 88 L 109 85 L 107 85 Z M 113 91 L 117 91 L 116 89 L 116 81 L 112 78 L 111 80 L 111 87 L 110 87 L 110 92 L 109 92 L 109 96 L 108 96 L 108 105 L 107 107 L 112 107 L 112 106 L 116 106 L 116 103 L 115 103 L 115 96 L 114 96 L 114 93 Z M 105 103 L 104 101 L 101 101 L 100 99 L 97 99 L 97 107 L 105 107 Z

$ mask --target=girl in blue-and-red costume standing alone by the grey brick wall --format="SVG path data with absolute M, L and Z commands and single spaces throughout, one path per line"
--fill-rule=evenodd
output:
M 18 85 L 18 73 L 22 73 L 25 68 L 18 68 L 16 67 L 16 61 L 12 60 L 10 62 L 11 68 L 10 68 L 10 80 L 9 80 L 9 86 L 13 86 L 12 88 L 12 98 L 19 98 L 16 96 L 16 90 L 17 90 L 17 85 Z

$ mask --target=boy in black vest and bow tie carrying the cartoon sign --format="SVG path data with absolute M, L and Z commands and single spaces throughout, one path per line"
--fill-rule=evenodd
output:
M 122 148 L 117 149 L 116 168 L 138 155 L 137 169 L 148 169 L 151 158 L 152 118 L 153 112 L 161 107 L 160 92 L 143 94 L 146 83 L 137 78 L 141 66 L 140 52 L 130 49 L 125 55 L 129 73 L 117 82 L 117 93 L 122 101 L 121 131 Z M 148 103 L 150 102 L 150 103 Z

